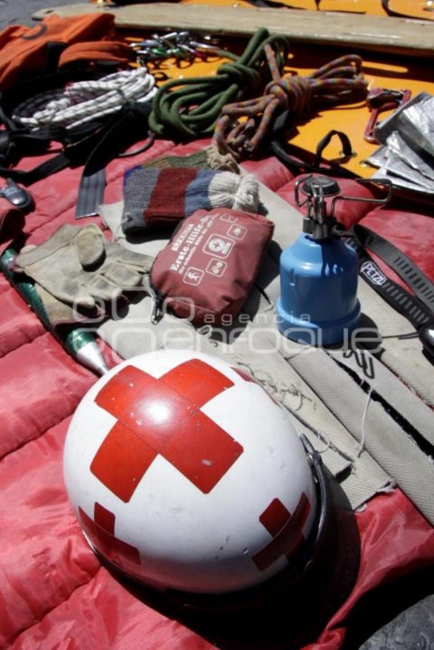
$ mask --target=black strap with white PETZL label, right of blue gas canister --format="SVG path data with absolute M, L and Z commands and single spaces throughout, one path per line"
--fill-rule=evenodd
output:
M 381 268 L 379 268 L 372 257 L 370 257 L 366 248 L 369 248 L 369 250 L 371 250 L 373 253 L 376 253 L 378 257 L 381 257 L 381 259 L 383 259 L 385 263 L 390 266 L 390 268 L 394 268 L 400 278 L 402 278 L 405 283 L 407 283 L 407 285 L 414 291 L 421 288 L 418 280 L 421 280 L 422 278 L 424 278 L 428 283 L 426 286 L 432 286 L 432 283 L 428 278 L 426 278 L 426 276 L 424 276 L 424 274 L 422 274 L 422 271 L 420 271 L 415 263 L 411 261 L 407 255 L 404 255 L 404 253 L 398 251 L 398 249 L 390 244 L 390 242 L 386 242 L 394 249 L 392 253 L 393 259 L 396 259 L 397 257 L 396 252 L 398 252 L 400 255 L 398 266 L 395 268 L 394 261 L 392 261 L 392 263 L 390 262 L 390 259 L 392 259 L 390 250 L 389 253 L 385 253 L 386 257 L 383 257 L 383 253 L 385 252 L 387 246 L 381 246 L 379 249 L 377 248 L 377 250 L 375 250 L 375 244 L 372 243 L 373 240 L 377 238 L 383 240 L 383 242 L 386 240 L 384 240 L 382 237 L 379 237 L 379 235 L 376 233 L 368 230 L 368 228 L 360 226 L 359 224 L 353 226 L 352 231 L 355 239 L 353 242 L 350 240 L 348 243 L 350 245 L 353 245 L 359 253 L 359 259 L 361 260 L 359 273 L 362 278 L 366 280 L 366 282 L 370 285 L 370 287 L 372 287 L 374 291 L 376 291 L 387 303 L 389 303 L 391 307 L 396 309 L 398 313 L 407 318 L 407 320 L 411 322 L 416 330 L 420 330 L 420 328 L 422 328 L 424 325 L 428 324 L 429 322 L 433 322 L 434 311 L 431 311 L 431 309 L 429 309 L 429 307 L 426 306 L 424 302 L 421 302 L 420 299 L 413 296 L 413 294 L 407 291 L 407 289 L 404 289 L 401 287 L 401 285 L 398 285 L 398 283 L 387 278 Z M 379 250 L 381 250 L 381 252 L 379 252 Z M 405 266 L 407 269 L 405 273 L 402 270 L 403 266 Z M 413 272 L 415 273 L 414 276 Z M 415 280 L 418 282 L 418 286 L 414 285 Z

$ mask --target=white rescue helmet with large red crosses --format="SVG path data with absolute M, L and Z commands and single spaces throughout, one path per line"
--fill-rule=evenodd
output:
M 84 396 L 64 478 L 105 560 L 151 587 L 222 594 L 281 573 L 316 537 L 308 456 L 244 370 L 163 350 L 121 363 Z

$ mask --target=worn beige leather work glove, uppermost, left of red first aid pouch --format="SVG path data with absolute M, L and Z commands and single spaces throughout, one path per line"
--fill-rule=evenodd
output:
M 16 258 L 16 270 L 34 279 L 44 304 L 49 304 L 51 322 L 58 324 L 65 318 L 51 314 L 66 312 L 51 298 L 69 305 L 70 311 L 70 305 L 101 311 L 102 302 L 141 285 L 152 261 L 148 255 L 107 242 L 96 224 L 65 224 L 41 246 L 24 249 Z

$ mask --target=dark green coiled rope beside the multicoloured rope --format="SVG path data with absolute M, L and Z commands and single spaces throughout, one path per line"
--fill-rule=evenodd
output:
M 287 61 L 289 41 L 270 36 L 264 28 L 252 36 L 240 57 L 222 50 L 233 62 L 223 63 L 215 75 L 171 79 L 153 99 L 149 128 L 158 136 L 196 140 L 212 135 L 223 106 L 249 96 L 272 80 L 264 47 L 275 53 L 279 70 Z

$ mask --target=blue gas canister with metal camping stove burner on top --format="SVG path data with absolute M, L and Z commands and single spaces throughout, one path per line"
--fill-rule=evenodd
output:
M 388 183 L 381 181 L 381 185 Z M 300 192 L 306 197 L 303 201 Z M 281 333 L 301 343 L 320 346 L 349 340 L 359 323 L 359 257 L 341 239 L 333 217 L 337 200 L 358 199 L 339 192 L 338 183 L 326 176 L 309 176 L 296 183 L 296 203 L 307 205 L 307 214 L 303 233 L 281 254 L 276 309 Z M 333 199 L 327 213 L 328 197 Z M 369 201 L 385 203 L 389 198 L 390 189 L 385 199 Z

